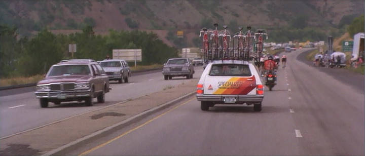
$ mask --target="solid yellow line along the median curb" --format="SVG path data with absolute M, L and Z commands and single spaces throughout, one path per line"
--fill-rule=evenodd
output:
M 121 135 L 119 135 L 119 136 L 117 136 L 117 137 L 115 137 L 115 138 L 113 138 L 113 139 L 111 139 L 111 140 L 109 140 L 109 141 L 106 141 L 106 142 L 104 142 L 104 143 L 102 143 L 102 144 L 100 144 L 100 145 L 98 145 L 98 146 L 96 146 L 96 147 L 93 147 L 93 148 L 91 148 L 91 149 L 89 149 L 89 150 L 87 150 L 87 151 L 84 151 L 83 153 L 81 153 L 81 154 L 79 154 L 79 155 L 87 155 L 87 154 L 89 154 L 90 152 L 92 152 L 92 151 L 94 151 L 94 150 L 96 150 L 96 149 L 98 149 L 98 148 L 100 148 L 100 147 L 103 147 L 103 146 L 105 146 L 105 145 L 107 145 L 107 144 L 109 144 L 109 143 L 111 143 L 111 142 L 113 142 L 113 141 L 115 141 L 115 140 L 117 140 L 117 139 L 119 139 L 119 138 L 121 138 L 121 137 L 123 137 L 123 136 L 127 135 L 128 133 L 133 132 L 134 130 L 137 130 L 137 129 L 141 128 L 142 126 L 147 125 L 147 124 L 149 124 L 149 123 L 153 122 L 154 120 L 156 120 L 156 119 L 160 118 L 161 116 L 163 116 L 163 115 L 167 114 L 168 112 L 170 112 L 170 111 L 172 111 L 172 110 L 174 110 L 174 109 L 176 109 L 176 108 L 178 108 L 178 107 L 180 107 L 180 106 L 182 106 L 182 105 L 184 105 L 184 104 L 187 104 L 188 102 L 192 101 L 193 99 L 195 99 L 195 97 L 193 97 L 193 98 L 189 99 L 188 101 L 186 101 L 186 102 L 184 102 L 184 103 L 182 103 L 182 104 L 180 104 L 180 105 L 178 105 L 178 106 L 175 106 L 174 108 L 172 108 L 172 109 L 170 109 L 170 110 L 168 110 L 168 111 L 166 111 L 166 112 L 164 112 L 164 113 L 162 113 L 162 114 L 160 114 L 160 115 L 156 116 L 155 118 L 153 118 L 153 119 L 151 119 L 151 120 L 149 120 L 149 121 L 147 121 L 147 122 L 143 123 L 142 125 L 139 125 L 139 126 L 137 126 L 137 127 L 133 128 L 133 129 L 131 129 L 131 130 L 129 130 L 129 131 L 127 131 L 127 132 L 125 132 L 125 133 L 123 133 L 123 134 L 121 134 Z

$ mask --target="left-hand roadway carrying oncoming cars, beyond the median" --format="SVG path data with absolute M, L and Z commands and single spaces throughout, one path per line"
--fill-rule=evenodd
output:
M 194 79 L 199 79 L 203 71 L 202 66 L 195 67 Z M 177 86 L 186 81 L 185 77 L 174 77 L 172 80 L 163 80 L 161 71 L 148 71 L 132 74 L 129 83 L 117 84 L 111 81 L 111 92 L 106 93 L 105 103 L 96 103 L 91 107 L 79 102 L 65 102 L 55 105 L 50 102 L 48 108 L 41 108 L 39 100 L 35 98 L 35 87 L 0 91 L 0 137 L 43 126 L 63 120 L 70 116 L 96 110 L 140 96 L 161 91 L 169 86 Z

